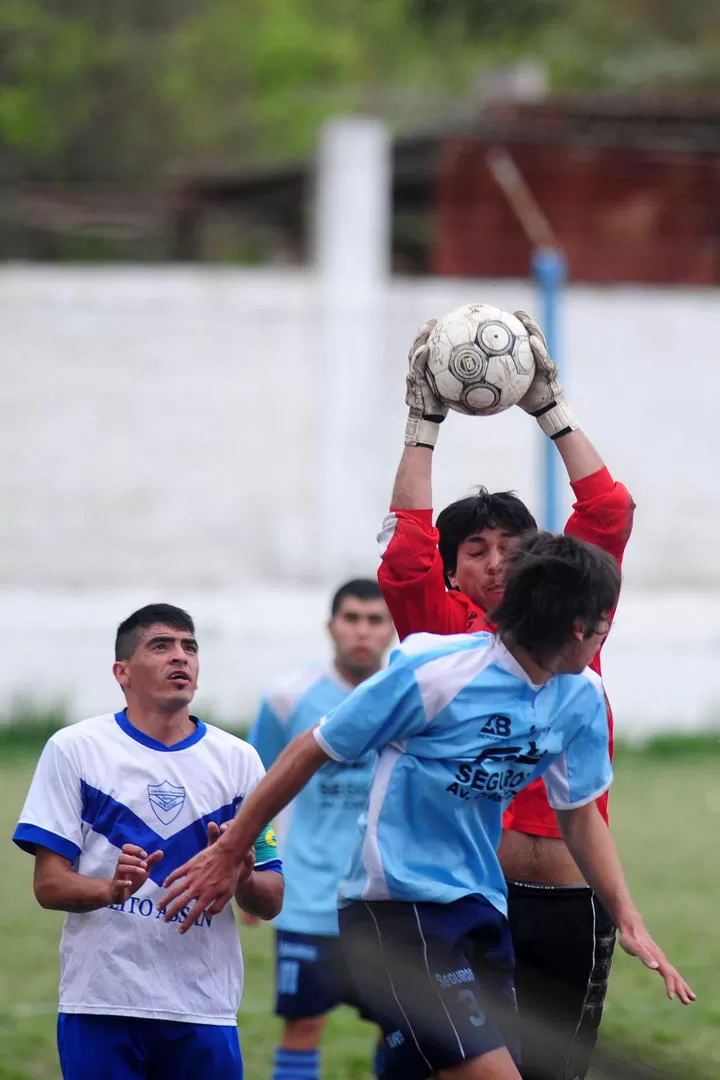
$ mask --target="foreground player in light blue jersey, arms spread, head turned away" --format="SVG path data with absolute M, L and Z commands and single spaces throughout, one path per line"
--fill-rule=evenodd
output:
M 543 775 L 621 944 L 660 972 L 669 997 L 690 1003 L 692 990 L 642 923 L 595 805 L 612 770 L 602 685 L 586 664 L 619 590 L 617 564 L 597 548 L 549 534 L 520 541 L 495 634 L 406 638 L 385 672 L 298 735 L 225 837 L 169 875 L 166 917 L 191 900 L 198 910 L 221 909 L 258 823 L 328 759 L 375 750 L 368 810 L 340 888 L 340 937 L 385 1032 L 384 1078 L 518 1080 L 497 847 L 504 807 Z

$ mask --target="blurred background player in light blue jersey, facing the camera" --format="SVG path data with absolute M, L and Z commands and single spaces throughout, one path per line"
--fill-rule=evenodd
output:
M 377 581 L 340 585 L 327 629 L 332 659 L 291 672 L 262 701 L 248 739 L 267 769 L 382 666 L 394 630 Z M 373 752 L 353 762 L 328 761 L 285 811 L 285 900 L 275 919 L 275 1014 L 283 1031 L 272 1080 L 316 1080 L 328 1012 L 355 1003 L 338 939 L 337 894 L 376 761 Z

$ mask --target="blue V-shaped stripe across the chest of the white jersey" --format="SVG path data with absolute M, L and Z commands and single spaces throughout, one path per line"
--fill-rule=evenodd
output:
M 164 852 L 161 862 L 150 874 L 155 885 L 162 885 L 168 874 L 206 848 L 209 822 L 223 825 L 227 821 L 232 821 L 243 801 L 242 796 L 237 796 L 232 802 L 195 819 L 175 836 L 162 837 L 112 795 L 107 795 L 97 787 L 91 787 L 84 780 L 80 782 L 80 791 L 82 820 L 113 847 L 120 849 L 123 843 L 136 843 L 148 854 L 158 849 Z

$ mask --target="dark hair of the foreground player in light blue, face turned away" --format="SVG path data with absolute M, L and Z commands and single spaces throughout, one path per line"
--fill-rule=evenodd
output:
M 505 563 L 505 594 L 491 612 L 508 635 L 544 664 L 567 645 L 575 620 L 587 637 L 614 610 L 621 575 L 595 544 L 553 532 L 526 534 Z

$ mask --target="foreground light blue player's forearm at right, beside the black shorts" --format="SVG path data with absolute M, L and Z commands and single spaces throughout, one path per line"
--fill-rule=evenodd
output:
M 615 841 L 594 802 L 557 811 L 570 854 L 621 930 L 638 917 Z

